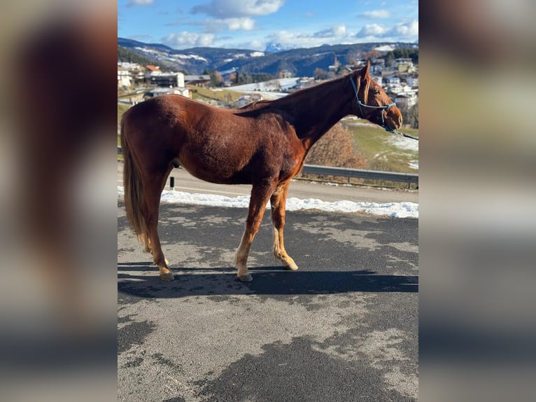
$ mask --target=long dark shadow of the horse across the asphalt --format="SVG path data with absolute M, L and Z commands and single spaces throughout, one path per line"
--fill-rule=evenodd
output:
M 143 298 L 418 292 L 416 275 L 380 275 L 372 270 L 288 271 L 281 266 L 249 269 L 253 282 L 239 282 L 234 267 L 174 267 L 175 280 L 163 282 L 154 266 L 119 263 L 118 292 Z

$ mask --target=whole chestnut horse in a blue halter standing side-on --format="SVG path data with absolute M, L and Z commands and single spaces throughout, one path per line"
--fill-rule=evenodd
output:
M 234 256 L 238 279 L 250 282 L 248 254 L 268 201 L 273 252 L 297 270 L 285 251 L 283 228 L 290 180 L 323 134 L 354 115 L 397 130 L 402 114 L 369 75 L 370 62 L 341 78 L 241 109 L 220 109 L 181 95 L 162 95 L 132 106 L 121 120 L 125 209 L 130 226 L 153 254 L 160 279 L 174 273 L 164 257 L 157 224 L 160 195 L 178 164 L 204 181 L 251 184 L 246 228 Z

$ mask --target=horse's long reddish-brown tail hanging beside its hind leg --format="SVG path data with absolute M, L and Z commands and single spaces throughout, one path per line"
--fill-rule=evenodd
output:
M 139 242 L 148 246 L 148 231 L 146 220 L 143 216 L 143 183 L 136 160 L 132 158 L 129 148 L 127 132 L 125 131 L 125 113 L 121 119 L 121 150 L 123 155 L 123 186 L 125 186 L 125 209 L 127 219 L 134 233 L 138 235 Z

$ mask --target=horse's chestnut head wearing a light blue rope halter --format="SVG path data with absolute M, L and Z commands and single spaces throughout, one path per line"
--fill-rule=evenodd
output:
M 367 62 L 365 67 L 350 74 L 355 93 L 352 112 L 388 130 L 397 130 L 402 126 L 402 113 L 381 85 L 372 79 L 369 68 L 370 62 Z

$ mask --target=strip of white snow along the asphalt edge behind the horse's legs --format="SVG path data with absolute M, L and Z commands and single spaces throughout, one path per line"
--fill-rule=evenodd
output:
M 123 197 L 125 190 L 118 186 L 118 196 Z M 210 205 L 213 207 L 247 208 L 249 196 L 240 195 L 238 197 L 226 197 L 225 195 L 184 193 L 183 191 L 164 190 L 162 202 Z M 363 212 L 366 214 L 390 216 L 392 218 L 418 218 L 418 204 L 416 202 L 386 202 L 379 204 L 376 202 L 353 202 L 335 201 L 327 202 L 316 198 L 290 197 L 286 204 L 287 211 L 298 211 L 300 209 L 319 209 L 327 212 Z

